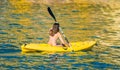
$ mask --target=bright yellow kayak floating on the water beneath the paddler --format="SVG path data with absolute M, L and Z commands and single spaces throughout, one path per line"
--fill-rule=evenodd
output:
M 85 41 L 85 42 L 74 42 L 71 43 L 71 47 L 62 46 L 51 46 L 49 44 L 24 44 L 21 46 L 22 52 L 33 52 L 33 51 L 43 51 L 43 52 L 71 52 L 88 50 L 96 44 L 96 41 Z

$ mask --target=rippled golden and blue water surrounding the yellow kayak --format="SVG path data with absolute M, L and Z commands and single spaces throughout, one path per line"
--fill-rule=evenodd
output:
M 1 70 L 120 69 L 120 8 L 51 5 L 70 42 L 97 40 L 98 45 L 90 51 L 24 54 L 20 49 L 24 43 L 47 43 L 48 30 L 54 20 L 47 12 L 48 5 L 14 1 L 0 2 Z

